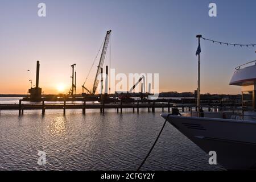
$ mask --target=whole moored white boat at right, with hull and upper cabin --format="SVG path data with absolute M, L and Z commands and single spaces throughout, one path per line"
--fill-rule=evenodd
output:
M 236 111 L 181 115 L 161 114 L 207 154 L 215 151 L 226 169 L 256 169 L 256 61 L 236 68 L 230 85 L 242 88 L 242 107 Z

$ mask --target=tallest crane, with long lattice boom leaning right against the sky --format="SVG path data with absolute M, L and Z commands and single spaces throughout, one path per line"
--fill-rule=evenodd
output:
M 97 68 L 96 76 L 95 76 L 95 79 L 94 79 L 94 84 L 93 84 L 92 91 L 90 91 L 89 89 L 87 89 L 84 86 L 85 82 L 84 82 L 84 85 L 82 85 L 82 89 L 85 89 L 89 94 L 92 94 L 92 95 L 94 95 L 96 93 L 96 90 L 97 90 L 97 87 L 98 87 L 98 82 L 99 82 L 98 77 L 100 76 L 101 68 L 104 64 L 104 59 L 105 59 L 105 56 L 106 56 L 106 51 L 108 49 L 108 44 L 109 44 L 109 39 L 110 39 L 110 33 L 111 33 L 111 30 L 106 32 L 104 45 L 103 45 L 102 52 L 101 52 L 100 62 L 98 63 L 98 68 Z

